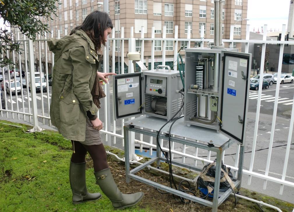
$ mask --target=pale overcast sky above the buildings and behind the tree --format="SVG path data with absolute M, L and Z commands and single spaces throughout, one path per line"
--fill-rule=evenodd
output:
M 247 24 L 250 31 L 261 31 L 261 27 L 267 24 L 268 31 L 281 31 L 282 25 L 288 24 L 290 0 L 248 0 Z M 0 19 L 0 27 L 3 27 L 3 19 Z

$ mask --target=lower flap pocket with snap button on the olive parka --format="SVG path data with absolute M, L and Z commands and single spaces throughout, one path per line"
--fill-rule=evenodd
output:
M 80 117 L 80 104 L 74 94 L 60 96 L 60 121 L 66 124 L 76 124 Z

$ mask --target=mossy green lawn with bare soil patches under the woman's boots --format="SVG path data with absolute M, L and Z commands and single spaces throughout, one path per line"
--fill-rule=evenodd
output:
M 2 123 L 1 123 L 2 122 Z M 69 185 L 69 162 L 71 143 L 54 131 L 44 133 L 25 133 L 30 126 L 15 124 L 22 128 L 3 124 L 0 120 L 0 211 L 115 211 L 109 199 L 102 193 L 102 198 L 74 205 L 71 202 L 72 193 Z M 109 151 L 118 153 L 120 150 L 106 147 Z M 121 154 L 121 151 L 120 151 Z M 87 161 L 87 187 L 90 192 L 101 192 L 93 175 L 92 161 Z M 108 156 L 108 165 L 120 190 L 124 193 L 143 191 L 145 197 L 136 206 L 122 210 L 134 212 L 149 211 L 211 211 L 211 208 L 197 203 L 184 205 L 177 202 L 170 194 L 161 194 L 151 186 L 137 181 L 126 184 L 124 166 Z M 164 165 L 164 164 L 163 164 Z M 163 166 L 164 167 L 164 166 Z M 138 173 L 145 178 L 168 185 L 165 175 L 153 175 L 148 169 Z M 243 193 L 242 193 L 243 192 Z M 242 195 L 273 204 L 283 211 L 292 211 L 293 204 L 253 193 L 242 189 Z M 240 199 L 237 206 L 230 197 L 220 207 L 219 211 L 259 211 L 254 203 Z M 263 207 L 264 211 L 273 211 Z

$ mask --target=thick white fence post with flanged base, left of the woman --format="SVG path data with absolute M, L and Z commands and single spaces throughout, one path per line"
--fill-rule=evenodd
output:
M 33 124 L 34 127 L 29 130 L 30 132 L 42 131 L 43 129 L 39 127 L 38 121 L 38 108 L 36 99 L 36 84 L 35 84 L 35 67 L 34 67 L 34 46 L 33 41 L 28 42 L 28 52 L 29 52 L 29 73 L 30 73 L 30 86 L 31 86 L 31 97 L 32 97 L 32 114 L 33 114 Z

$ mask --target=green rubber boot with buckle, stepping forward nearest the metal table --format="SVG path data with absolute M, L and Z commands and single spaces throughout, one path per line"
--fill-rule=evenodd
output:
M 110 199 L 115 209 L 124 209 L 136 205 L 144 196 L 144 193 L 123 194 L 118 190 L 113 180 L 110 168 L 94 172 L 96 181 L 103 193 Z

